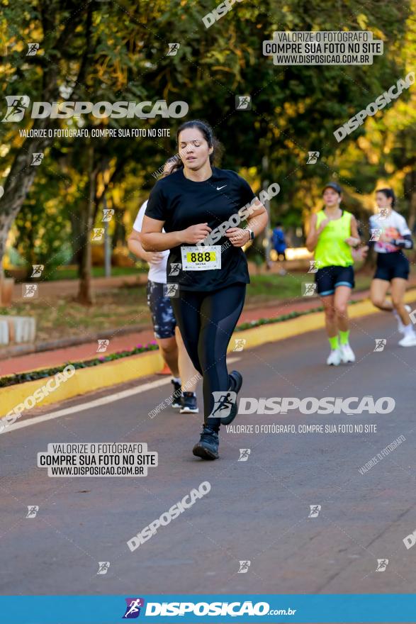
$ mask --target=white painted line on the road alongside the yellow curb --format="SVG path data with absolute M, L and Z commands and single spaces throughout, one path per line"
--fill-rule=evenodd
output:
M 240 360 L 240 357 L 228 357 L 227 364 L 232 364 L 232 362 L 237 362 Z M 147 384 L 143 384 L 142 386 L 137 386 L 136 388 L 130 388 L 128 390 L 123 390 L 121 392 L 116 392 L 116 394 L 108 394 L 107 396 L 101 396 L 101 399 L 94 399 L 94 401 L 87 401 L 86 403 L 79 403 L 72 407 L 67 407 L 62 410 L 58 410 L 56 412 L 51 412 L 49 414 L 43 414 L 43 416 L 33 416 L 33 418 L 28 418 L 28 420 L 21 420 L 20 422 L 14 423 L 1 433 L 4 435 L 5 433 L 10 433 L 11 431 L 15 431 L 16 429 L 23 429 L 25 427 L 30 427 L 30 425 L 37 425 L 38 423 L 45 423 L 46 420 L 53 420 L 54 418 L 60 418 L 61 416 L 68 416 L 69 414 L 73 414 L 74 412 L 84 411 L 90 408 L 99 407 L 101 405 L 107 405 L 108 403 L 114 403 L 114 401 L 119 401 L 120 399 L 125 399 L 128 396 L 133 396 L 134 394 L 140 394 L 142 392 L 147 392 L 147 390 L 152 390 L 154 388 L 159 388 L 159 386 L 164 386 L 165 384 L 170 383 L 169 379 L 157 379 L 157 381 L 149 381 Z M 77 397 L 73 397 L 76 399 Z

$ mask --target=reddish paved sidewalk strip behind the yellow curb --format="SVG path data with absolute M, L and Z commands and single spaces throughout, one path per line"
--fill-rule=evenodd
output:
M 369 291 L 355 292 L 352 295 L 352 300 L 361 301 L 368 296 Z M 305 297 L 301 301 L 298 299 L 287 299 L 269 306 L 247 306 L 242 311 L 238 325 L 249 323 L 250 321 L 258 321 L 259 318 L 276 318 L 294 311 L 303 312 L 317 308 L 320 305 L 320 299 L 317 297 Z M 118 331 L 119 330 L 114 330 L 113 336 L 109 338 L 110 342 L 106 350 L 106 355 L 118 351 L 130 350 L 137 347 L 137 345 L 147 345 L 154 340 L 153 330 L 150 324 L 148 328 L 144 330 L 134 331 L 124 335 L 118 335 Z M 91 340 L 91 342 L 84 342 L 84 344 L 81 345 L 9 357 L 7 360 L 0 360 L 0 377 L 40 368 L 55 367 L 66 362 L 91 360 L 94 357 L 104 355 L 103 353 L 97 353 L 97 347 L 97 340 Z

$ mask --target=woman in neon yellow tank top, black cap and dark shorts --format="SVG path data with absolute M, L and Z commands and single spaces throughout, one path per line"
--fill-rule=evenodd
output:
M 352 250 L 360 243 L 354 215 L 341 206 L 342 188 L 330 182 L 322 193 L 325 207 L 310 218 L 306 247 L 315 252 L 317 293 L 325 311 L 325 327 L 331 352 L 327 364 L 355 362 L 349 346 L 348 301 L 354 288 Z

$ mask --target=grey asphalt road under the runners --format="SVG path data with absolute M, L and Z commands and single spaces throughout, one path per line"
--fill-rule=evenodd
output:
M 387 339 L 383 352 L 373 352 L 376 338 Z M 203 462 L 191 453 L 201 416 L 166 408 L 149 418 L 169 394 L 160 377 L 140 380 L 150 389 L 60 418 L 32 420 L 110 393 L 33 411 L 22 420 L 29 426 L 0 436 L 1 594 L 415 592 L 416 547 L 407 550 L 403 539 L 416 530 L 416 348 L 398 339 L 393 319 L 379 314 L 354 321 L 353 365 L 323 364 L 322 331 L 232 354 L 243 397 L 395 400 L 385 414 L 240 414 L 235 425 L 352 423 L 376 425 L 373 433 L 223 428 L 220 459 Z M 395 450 L 360 474 L 399 436 Z M 36 467 L 50 442 L 119 441 L 147 442 L 159 465 L 141 478 L 52 478 Z M 251 451 L 247 461 L 239 461 L 242 448 Z M 133 535 L 203 481 L 206 496 L 130 552 Z M 321 507 L 315 518 L 311 505 Z M 28 506 L 39 507 L 35 518 L 26 518 Z M 377 559 L 388 559 L 383 572 Z M 250 562 L 247 572 L 238 572 L 240 561 Z M 110 562 L 106 574 L 97 574 L 99 562 Z

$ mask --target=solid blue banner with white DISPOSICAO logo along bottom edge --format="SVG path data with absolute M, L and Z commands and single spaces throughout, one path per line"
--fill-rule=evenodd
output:
M 416 594 L 0 596 L 5 624 L 415 623 Z

